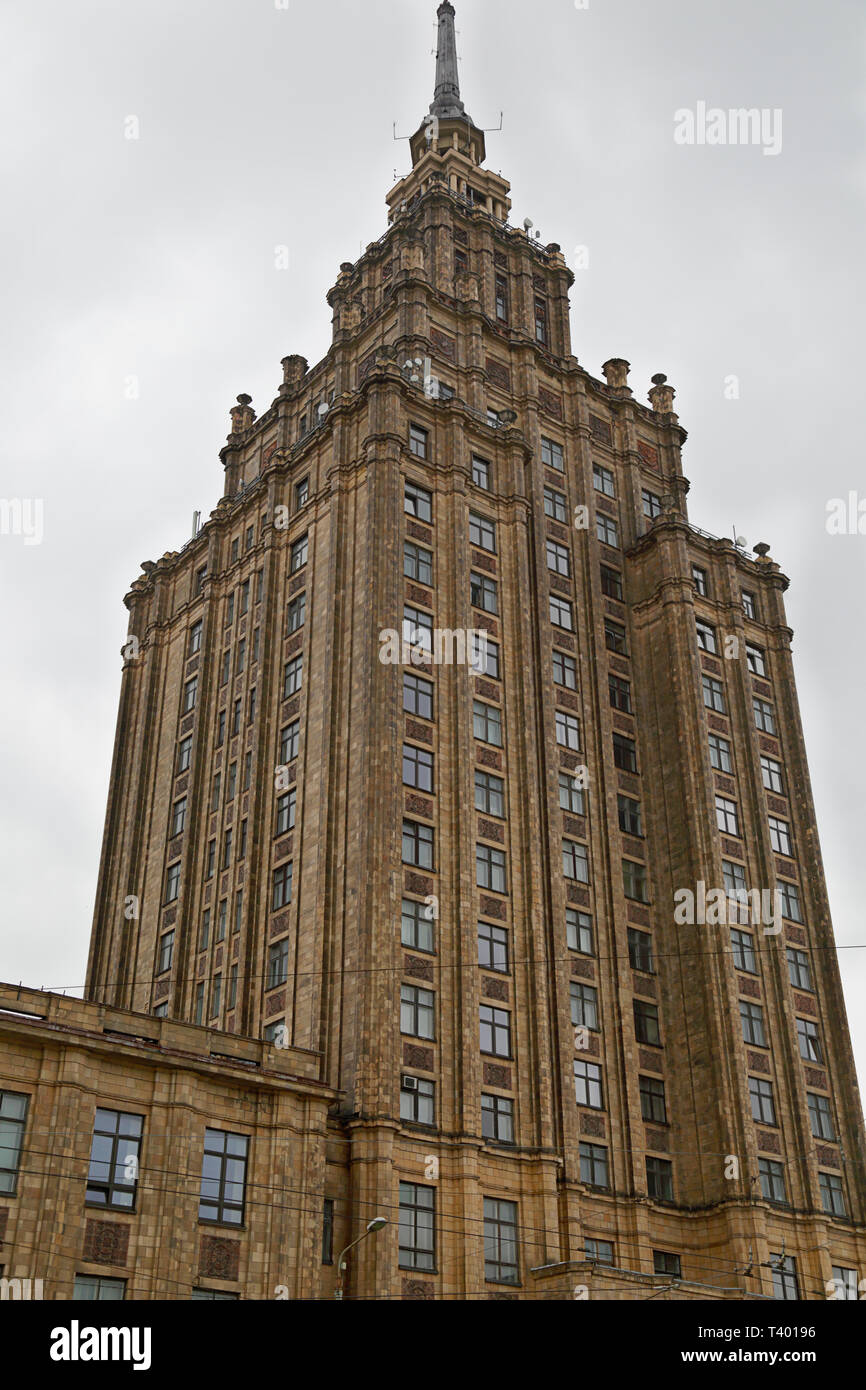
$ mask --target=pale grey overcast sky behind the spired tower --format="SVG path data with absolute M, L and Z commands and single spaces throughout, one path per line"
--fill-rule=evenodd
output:
M 866 11 L 456 8 L 463 97 L 477 124 L 502 118 L 488 165 L 513 221 L 578 267 L 575 356 L 596 377 L 626 357 L 639 400 L 667 374 L 692 523 L 767 542 L 791 577 L 866 1083 Z M 0 534 L 0 979 L 83 984 L 122 595 L 220 499 L 238 393 L 261 413 L 281 357 L 327 352 L 325 292 L 386 227 L 435 36 L 434 0 L 0 6 L 0 499 L 25 503 Z M 677 139 L 681 113 L 698 135 L 701 110 L 741 107 L 765 113 L 763 140 L 728 122 L 727 143 Z M 830 534 L 849 493 L 853 524 Z

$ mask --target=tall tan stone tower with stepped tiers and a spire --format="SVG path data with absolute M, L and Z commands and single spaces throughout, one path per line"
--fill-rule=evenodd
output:
M 238 396 L 126 596 L 89 998 L 318 1058 L 327 1219 L 392 1223 L 354 1294 L 849 1290 L 788 581 L 689 523 L 664 375 L 573 356 L 449 3 L 410 147 L 327 356 Z

